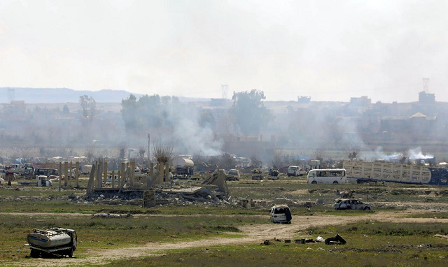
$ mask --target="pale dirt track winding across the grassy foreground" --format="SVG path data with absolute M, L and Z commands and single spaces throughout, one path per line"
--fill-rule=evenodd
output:
M 10 215 L 18 215 L 17 213 L 9 213 Z M 29 215 L 29 214 L 27 214 Z M 49 214 L 50 215 L 50 214 Z M 76 216 L 76 214 L 70 214 Z M 78 214 L 78 216 L 85 216 Z M 153 215 L 145 215 L 153 216 Z M 160 215 L 172 216 L 172 215 Z M 177 215 L 174 215 L 177 216 Z M 195 215 L 183 215 L 195 216 Z M 229 215 L 232 216 L 232 215 Z M 448 223 L 448 219 L 431 219 L 431 218 L 403 218 L 402 213 L 395 212 L 379 212 L 367 216 L 332 216 L 332 215 L 316 215 L 316 216 L 295 216 L 292 224 L 255 224 L 241 226 L 244 237 L 241 238 L 209 238 L 194 241 L 183 241 L 179 243 L 148 243 L 139 247 L 111 247 L 107 250 L 97 250 L 92 252 L 90 257 L 84 259 L 29 259 L 22 261 L 21 266 L 66 266 L 75 265 L 83 266 L 85 264 L 107 264 L 115 259 L 126 259 L 135 257 L 144 257 L 160 254 L 168 250 L 183 249 L 190 247 L 212 247 L 216 245 L 241 245 L 248 243 L 261 243 L 266 239 L 280 238 L 292 239 L 298 231 L 309 228 L 310 226 L 326 226 L 334 224 L 346 224 L 349 222 L 360 222 L 365 220 L 377 220 L 380 222 L 440 222 Z M 265 216 L 266 219 L 269 217 Z

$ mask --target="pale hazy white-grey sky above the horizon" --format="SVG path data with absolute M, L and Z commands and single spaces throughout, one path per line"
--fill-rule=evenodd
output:
M 316 3 L 318 2 L 318 3 Z M 0 0 L 0 87 L 448 101 L 448 1 Z

